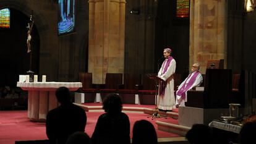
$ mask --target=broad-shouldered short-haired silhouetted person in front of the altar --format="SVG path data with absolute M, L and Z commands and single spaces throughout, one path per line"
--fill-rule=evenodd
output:
M 48 112 L 46 134 L 51 143 L 65 144 L 72 133 L 85 131 L 87 116 L 85 110 L 71 103 L 68 88 L 59 87 L 55 94 L 61 105 Z

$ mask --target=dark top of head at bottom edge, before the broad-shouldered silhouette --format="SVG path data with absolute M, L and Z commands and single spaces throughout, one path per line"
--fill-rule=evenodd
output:
M 91 144 L 91 138 L 85 132 L 75 132 L 67 138 L 66 144 Z

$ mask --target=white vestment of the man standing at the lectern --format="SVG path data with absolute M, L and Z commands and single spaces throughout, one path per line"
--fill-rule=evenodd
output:
M 166 82 L 166 88 L 164 95 L 161 95 L 160 88 L 158 88 L 158 96 L 157 96 L 157 104 L 159 109 L 163 110 L 172 110 L 176 108 L 175 106 L 175 96 L 174 96 L 174 76 L 176 69 L 176 61 L 174 59 L 171 60 L 168 69 L 163 73 L 164 67 L 166 67 L 166 63 L 168 59 L 163 62 L 161 69 L 158 72 L 158 77 L 162 78 Z

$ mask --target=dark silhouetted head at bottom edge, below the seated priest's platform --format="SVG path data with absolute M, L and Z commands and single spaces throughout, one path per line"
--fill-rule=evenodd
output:
M 190 144 L 213 144 L 212 129 L 208 125 L 194 124 L 185 137 Z

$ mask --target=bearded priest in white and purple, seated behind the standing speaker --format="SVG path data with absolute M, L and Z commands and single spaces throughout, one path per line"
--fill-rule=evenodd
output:
M 198 87 L 203 82 L 202 74 L 199 72 L 200 65 L 198 63 L 193 64 L 191 73 L 187 78 L 179 85 L 176 91 L 176 107 L 185 106 L 187 101 L 187 91 L 193 87 Z

